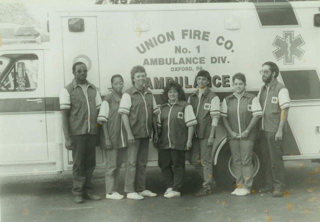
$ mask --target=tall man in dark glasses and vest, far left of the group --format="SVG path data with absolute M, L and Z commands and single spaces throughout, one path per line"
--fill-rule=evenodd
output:
M 72 66 L 73 80 L 60 92 L 60 109 L 65 148 L 72 150 L 74 202 L 83 198 L 98 200 L 92 194 L 91 177 L 95 167 L 97 113 L 101 97 L 97 88 L 86 80 L 87 67 L 83 62 Z

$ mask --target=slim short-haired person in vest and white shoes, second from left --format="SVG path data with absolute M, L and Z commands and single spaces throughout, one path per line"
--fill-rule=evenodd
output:
M 106 159 L 105 198 L 122 199 L 123 195 L 117 192 L 119 168 L 126 146 L 125 131 L 121 115 L 118 113 L 123 88 L 122 76 L 119 74 L 113 75 L 111 86 L 111 93 L 103 98 L 97 121 L 102 124 L 104 134 L 101 146 L 105 150 Z

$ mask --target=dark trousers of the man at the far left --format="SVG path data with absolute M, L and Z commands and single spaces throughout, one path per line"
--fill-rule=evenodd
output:
M 73 195 L 82 195 L 92 188 L 91 177 L 95 167 L 96 135 L 72 135 Z

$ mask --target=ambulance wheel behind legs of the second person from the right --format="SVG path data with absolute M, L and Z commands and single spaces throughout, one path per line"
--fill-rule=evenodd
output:
M 258 150 L 259 151 L 259 150 Z M 259 158 L 259 152 L 256 154 L 256 148 L 253 149 L 252 152 L 252 163 L 253 163 L 253 184 L 252 189 L 256 189 L 258 187 L 263 187 L 264 179 L 263 179 L 263 170 L 261 170 L 261 161 Z M 232 164 L 232 157 L 230 146 L 228 143 L 222 147 L 219 152 L 217 164 L 213 167 L 214 178 L 215 181 L 221 189 L 234 189 L 236 178 L 235 178 L 235 170 Z

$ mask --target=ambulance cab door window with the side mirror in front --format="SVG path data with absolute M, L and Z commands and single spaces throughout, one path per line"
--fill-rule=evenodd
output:
M 0 91 L 34 91 L 38 80 L 36 54 L 0 56 Z

